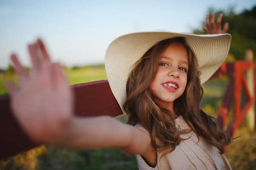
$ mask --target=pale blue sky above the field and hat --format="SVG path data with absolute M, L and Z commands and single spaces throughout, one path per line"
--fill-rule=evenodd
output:
M 236 12 L 255 0 L 0 0 L 0 68 L 15 52 L 30 66 L 27 45 L 44 40 L 53 61 L 103 64 L 108 45 L 132 32 L 165 29 L 192 33 L 210 7 Z

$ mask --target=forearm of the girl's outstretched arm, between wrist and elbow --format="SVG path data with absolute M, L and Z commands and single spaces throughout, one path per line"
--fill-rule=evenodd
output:
M 61 145 L 76 149 L 121 148 L 130 141 L 130 125 L 108 116 L 75 117 L 67 131 L 67 140 L 62 141 Z

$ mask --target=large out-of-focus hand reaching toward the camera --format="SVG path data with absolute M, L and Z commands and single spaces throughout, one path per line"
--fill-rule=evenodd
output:
M 12 54 L 20 87 L 7 82 L 11 108 L 23 130 L 36 142 L 60 140 L 65 137 L 72 120 L 73 92 L 59 63 L 50 62 L 41 40 L 28 46 L 32 60 L 31 74 Z

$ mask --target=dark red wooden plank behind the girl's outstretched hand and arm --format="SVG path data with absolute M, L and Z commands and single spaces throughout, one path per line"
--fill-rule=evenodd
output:
M 75 94 L 77 116 L 118 116 L 122 114 L 108 80 L 71 86 Z M 10 108 L 9 95 L 0 96 L 0 160 L 39 146 L 23 132 Z

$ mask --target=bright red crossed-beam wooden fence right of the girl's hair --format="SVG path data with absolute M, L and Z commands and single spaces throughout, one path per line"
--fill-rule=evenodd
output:
M 227 90 L 224 94 L 222 105 L 219 108 L 219 113 L 217 117 L 218 123 L 220 124 L 221 128 L 224 129 L 224 127 L 227 125 L 228 111 L 232 104 L 232 99 L 234 98 L 234 116 L 233 120 L 228 125 L 226 131 L 226 133 L 229 136 L 233 136 L 237 128 L 241 125 L 241 122 L 243 121 L 244 116 L 246 115 L 250 106 L 254 104 L 255 95 L 250 95 L 246 78 L 244 75 L 244 71 L 253 66 L 256 67 L 256 63 L 245 61 L 236 61 L 235 63 L 224 63 L 223 65 L 221 65 L 218 71 L 216 71 L 215 74 L 212 76 L 212 78 L 214 78 L 227 74 L 230 77 L 230 81 L 227 85 Z M 242 108 L 241 88 L 243 88 L 244 94 L 247 98 L 247 102 Z

